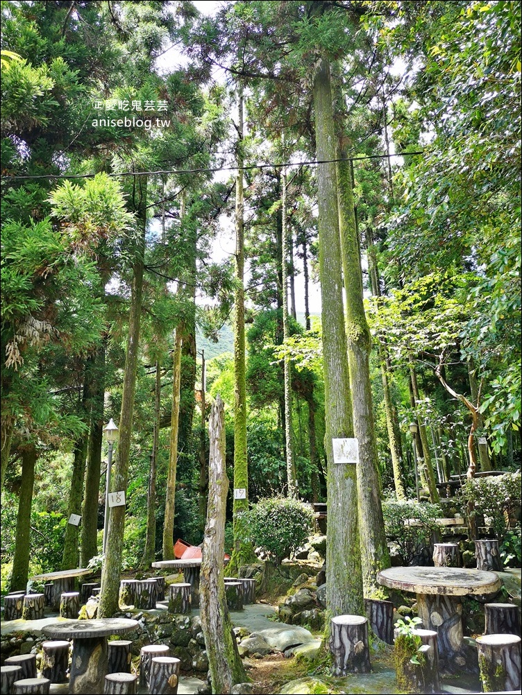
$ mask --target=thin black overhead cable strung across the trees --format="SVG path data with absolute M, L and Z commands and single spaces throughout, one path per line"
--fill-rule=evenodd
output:
M 144 172 L 106 172 L 109 177 L 126 177 L 126 176 L 153 176 L 155 174 L 205 174 L 205 173 L 217 173 L 217 172 L 228 172 L 228 171 L 238 171 L 241 169 L 252 170 L 252 169 L 279 169 L 282 167 L 300 167 L 304 165 L 317 166 L 318 164 L 330 164 L 333 162 L 356 162 L 363 159 L 383 159 L 388 157 L 405 157 L 412 154 L 425 154 L 425 150 L 419 150 L 418 152 L 397 152 L 396 154 L 365 154 L 356 157 L 339 157 L 337 159 L 321 159 L 319 161 L 315 159 L 310 159 L 308 161 L 301 162 L 280 162 L 272 164 L 251 164 L 243 167 L 230 166 L 230 167 L 198 167 L 197 169 L 159 169 L 155 171 L 144 171 Z M 101 172 L 98 172 L 101 173 Z M 3 183 L 11 183 L 13 181 L 26 181 L 31 179 L 93 179 L 96 174 L 38 174 L 31 175 L 27 174 L 24 176 L 3 176 L 1 181 Z

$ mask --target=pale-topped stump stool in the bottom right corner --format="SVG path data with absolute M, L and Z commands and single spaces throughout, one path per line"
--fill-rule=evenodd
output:
M 480 680 L 485 693 L 520 690 L 521 639 L 518 635 L 477 637 Z

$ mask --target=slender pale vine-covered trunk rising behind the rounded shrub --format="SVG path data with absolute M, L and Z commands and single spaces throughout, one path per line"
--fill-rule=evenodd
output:
M 283 138 L 283 160 L 284 141 Z M 281 195 L 281 214 L 283 216 L 283 259 L 281 267 L 283 268 L 283 341 L 290 337 L 290 325 L 288 316 L 288 254 L 290 253 L 290 229 L 287 220 L 287 202 L 286 202 L 286 171 L 281 172 L 282 195 Z M 292 443 L 292 377 L 290 374 L 290 357 L 285 355 L 283 359 L 283 384 L 285 392 L 285 443 L 286 443 L 286 475 L 287 475 L 287 493 L 289 497 L 296 496 L 297 481 L 294 463 L 294 446 Z

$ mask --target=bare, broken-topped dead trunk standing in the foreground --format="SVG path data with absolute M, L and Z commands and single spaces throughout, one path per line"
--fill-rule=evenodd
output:
M 209 494 L 200 573 L 200 616 L 212 692 L 227 693 L 236 683 L 246 682 L 246 673 L 232 635 L 223 580 L 228 477 L 225 466 L 225 408 L 219 394 L 210 413 L 209 437 Z

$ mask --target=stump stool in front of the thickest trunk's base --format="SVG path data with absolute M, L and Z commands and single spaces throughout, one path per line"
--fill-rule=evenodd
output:
M 368 621 L 360 615 L 338 615 L 330 621 L 333 675 L 370 672 Z

